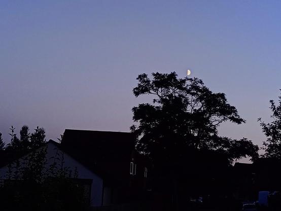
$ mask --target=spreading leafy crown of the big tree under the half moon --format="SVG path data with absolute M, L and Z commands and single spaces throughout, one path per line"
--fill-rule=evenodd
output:
M 152 160 L 178 163 L 190 152 L 210 150 L 225 155 L 230 163 L 241 157 L 258 157 L 258 147 L 251 140 L 232 140 L 218 135 L 221 123 L 244 123 L 224 93 L 214 93 L 197 78 L 179 79 L 175 72 L 153 73 L 137 77 L 133 94 L 151 95 L 152 103 L 132 109 L 131 126 L 139 152 Z

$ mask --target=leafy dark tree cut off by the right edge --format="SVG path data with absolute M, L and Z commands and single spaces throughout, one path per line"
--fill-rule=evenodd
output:
M 263 142 L 265 150 L 264 157 L 281 159 L 281 96 L 276 105 L 274 100 L 270 100 L 270 109 L 273 121 L 265 123 L 261 118 L 258 119 L 262 131 L 267 139 Z

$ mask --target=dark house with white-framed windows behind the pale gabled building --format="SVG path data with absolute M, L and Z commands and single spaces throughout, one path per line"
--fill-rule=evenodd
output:
M 65 129 L 63 150 L 103 180 L 102 205 L 142 199 L 148 186 L 150 162 L 134 151 L 128 132 Z

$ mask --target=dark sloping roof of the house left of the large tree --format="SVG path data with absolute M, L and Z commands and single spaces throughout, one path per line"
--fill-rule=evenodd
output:
M 65 129 L 61 147 L 103 179 L 118 183 L 129 175 L 134 136 L 129 132 Z

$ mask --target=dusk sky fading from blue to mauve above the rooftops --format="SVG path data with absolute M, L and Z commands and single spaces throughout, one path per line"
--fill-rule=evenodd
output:
M 280 1 L 0 1 L 0 131 L 129 131 L 139 74 L 175 71 L 224 92 L 261 146 L 281 88 Z

